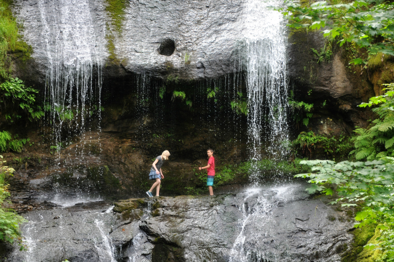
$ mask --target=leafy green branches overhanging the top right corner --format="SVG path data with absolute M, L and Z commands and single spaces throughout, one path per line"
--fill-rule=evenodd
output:
M 291 28 L 326 29 L 324 36 L 339 39 L 340 46 L 351 42 L 368 52 L 394 55 L 394 5 L 391 3 L 371 5 L 361 0 L 301 5 L 287 1 L 285 6 L 274 9 L 282 11 Z M 305 23 L 305 20 L 310 22 Z M 355 64 L 362 62 L 360 57 L 351 60 Z

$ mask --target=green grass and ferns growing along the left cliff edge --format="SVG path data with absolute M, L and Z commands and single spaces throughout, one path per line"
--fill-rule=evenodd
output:
M 11 0 L 0 0 L 0 121 L 12 123 L 18 119 L 34 121 L 41 118 L 44 112 L 35 104 L 38 91 L 24 85 L 23 81 L 10 76 L 11 56 L 26 62 L 30 59 L 32 47 L 22 41 L 19 26 L 13 17 Z M 0 131 L 0 151 L 11 149 L 21 151 L 28 139 L 14 139 L 9 132 Z

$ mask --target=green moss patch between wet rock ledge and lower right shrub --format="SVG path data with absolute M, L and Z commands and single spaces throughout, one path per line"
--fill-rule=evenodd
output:
M 369 262 L 371 260 L 361 261 L 361 256 L 366 257 L 368 251 L 364 251 L 364 245 L 375 235 L 376 225 L 366 225 L 351 231 L 354 235 L 353 243 L 350 250 L 346 251 L 342 256 L 342 262 Z M 363 253 L 364 251 L 364 253 Z M 371 251 L 369 251 L 371 252 Z

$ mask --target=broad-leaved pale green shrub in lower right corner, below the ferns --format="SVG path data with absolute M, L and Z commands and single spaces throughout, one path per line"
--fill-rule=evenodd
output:
M 327 184 L 337 185 L 342 206 L 360 206 L 356 214 L 358 223 L 355 227 L 377 224 L 382 235 L 377 237 L 377 244 L 370 243 L 366 248 L 380 249 L 385 257 L 394 258 L 394 164 L 381 160 L 367 162 L 343 161 L 335 163 L 329 160 L 301 161 L 301 164 L 312 166 L 314 173 L 298 174 L 296 177 L 308 178 L 311 187 L 306 190 L 332 195 L 333 189 Z M 388 260 L 386 260 L 388 261 Z

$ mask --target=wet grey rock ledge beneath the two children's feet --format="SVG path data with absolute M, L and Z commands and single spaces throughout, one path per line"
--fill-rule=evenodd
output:
M 27 212 L 7 261 L 336 262 L 352 224 L 304 184 Z M 113 207 L 113 209 L 112 209 Z

